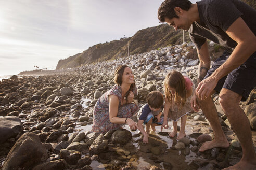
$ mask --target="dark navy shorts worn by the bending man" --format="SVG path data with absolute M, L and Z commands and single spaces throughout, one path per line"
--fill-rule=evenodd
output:
M 219 68 L 229 57 L 231 53 L 224 51 L 222 56 L 217 59 L 204 77 L 209 77 L 217 68 Z M 242 96 L 242 101 L 247 100 L 251 90 L 256 86 L 256 52 L 254 52 L 247 61 L 234 69 L 227 76 L 221 78 L 215 87 L 219 92 L 222 88 L 231 90 Z

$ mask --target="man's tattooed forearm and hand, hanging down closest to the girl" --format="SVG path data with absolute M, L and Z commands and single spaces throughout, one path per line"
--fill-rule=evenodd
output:
M 206 76 L 211 65 L 207 41 L 205 41 L 204 44 L 199 49 L 197 49 L 197 54 L 198 54 L 200 63 L 198 67 L 198 77 L 197 77 L 196 87 L 203 80 L 204 76 Z M 191 97 L 190 103 L 194 111 L 199 111 L 200 107 L 199 107 L 199 104 L 197 103 L 195 92 Z

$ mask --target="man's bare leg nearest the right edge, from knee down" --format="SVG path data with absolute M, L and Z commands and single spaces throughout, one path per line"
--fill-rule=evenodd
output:
M 256 169 L 256 154 L 252 143 L 250 123 L 244 110 L 239 106 L 241 98 L 242 96 L 228 89 L 222 89 L 220 93 L 221 107 L 242 146 L 241 160 L 226 169 Z

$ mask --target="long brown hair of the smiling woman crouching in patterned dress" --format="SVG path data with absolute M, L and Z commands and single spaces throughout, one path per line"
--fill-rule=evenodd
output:
M 123 72 L 124 69 L 128 67 L 127 65 L 121 65 L 118 66 L 116 71 L 114 71 L 114 83 L 121 85 L 122 84 L 122 76 L 123 76 Z M 126 98 L 126 101 L 128 101 L 128 95 L 130 93 L 130 91 L 133 91 L 133 89 L 135 88 L 135 80 L 133 80 L 133 84 L 131 84 L 129 90 L 125 93 L 124 97 Z

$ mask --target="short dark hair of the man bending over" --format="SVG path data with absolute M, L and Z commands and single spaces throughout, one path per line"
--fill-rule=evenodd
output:
M 191 4 L 192 3 L 188 0 L 165 0 L 158 8 L 158 19 L 160 22 L 164 22 L 165 18 L 178 18 L 174 8 L 180 7 L 181 9 L 188 11 Z

